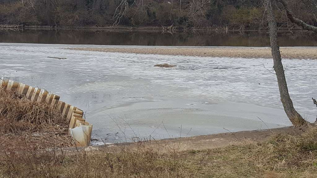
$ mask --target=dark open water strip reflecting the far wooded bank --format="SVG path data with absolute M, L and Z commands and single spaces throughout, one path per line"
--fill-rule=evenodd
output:
M 317 35 L 307 32 L 279 34 L 280 46 L 317 46 Z M 0 42 L 145 46 L 269 46 L 266 31 L 169 33 L 144 31 L 24 30 L 0 31 Z

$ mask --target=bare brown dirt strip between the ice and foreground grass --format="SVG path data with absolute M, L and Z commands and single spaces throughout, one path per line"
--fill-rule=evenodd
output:
M 157 151 L 166 150 L 204 150 L 222 148 L 229 145 L 243 145 L 248 143 L 258 143 L 278 133 L 295 133 L 301 134 L 303 130 L 294 129 L 293 127 L 283 127 L 266 130 L 239 131 L 229 133 L 219 133 L 212 135 L 202 135 L 194 137 L 168 138 L 162 140 L 150 140 L 139 143 L 117 143 L 102 146 L 90 146 L 85 148 L 86 151 L 101 150 L 109 153 L 121 152 L 122 150 L 136 150 L 138 146 L 151 148 Z M 69 148 L 72 151 L 75 148 Z M 83 148 L 76 148 L 83 149 Z

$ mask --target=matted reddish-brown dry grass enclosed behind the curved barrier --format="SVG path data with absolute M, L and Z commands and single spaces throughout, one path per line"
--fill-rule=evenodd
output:
M 23 96 L 1 88 L 0 139 L 1 147 L 11 149 L 71 145 L 68 121 L 62 119 L 58 109 L 45 103 L 23 99 Z

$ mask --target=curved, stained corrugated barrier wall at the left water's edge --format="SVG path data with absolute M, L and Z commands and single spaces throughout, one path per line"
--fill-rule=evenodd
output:
M 69 121 L 69 134 L 73 145 L 76 147 L 88 146 L 93 125 L 89 124 L 84 116 L 84 111 L 60 100 L 58 95 L 49 93 L 36 87 L 28 86 L 10 79 L 0 79 L 0 87 L 6 90 L 15 90 L 30 101 L 45 102 L 56 106 L 62 113 L 63 119 Z

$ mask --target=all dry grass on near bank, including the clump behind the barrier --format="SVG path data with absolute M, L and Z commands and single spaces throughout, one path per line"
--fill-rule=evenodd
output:
M 0 90 L 0 178 L 314 178 L 317 127 L 302 134 L 275 134 L 256 144 L 179 151 L 154 150 L 135 143 L 119 153 L 75 150 L 68 146 L 68 121 L 50 105 Z M 175 147 L 179 148 L 179 147 Z M 105 150 L 105 149 L 104 149 Z

